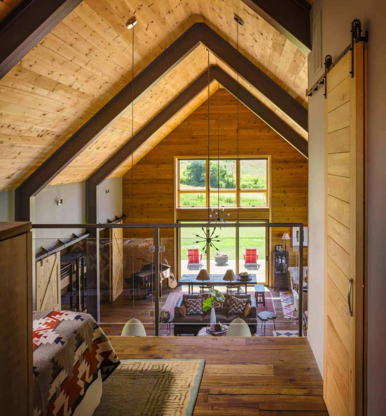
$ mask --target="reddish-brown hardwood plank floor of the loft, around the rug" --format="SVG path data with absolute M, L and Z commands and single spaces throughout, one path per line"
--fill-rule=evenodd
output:
M 305 337 L 109 339 L 120 359 L 205 359 L 194 416 L 328 416 Z

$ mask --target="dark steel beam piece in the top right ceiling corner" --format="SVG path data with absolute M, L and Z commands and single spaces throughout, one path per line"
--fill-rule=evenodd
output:
M 305 0 L 242 0 L 305 54 L 311 52 L 311 5 Z

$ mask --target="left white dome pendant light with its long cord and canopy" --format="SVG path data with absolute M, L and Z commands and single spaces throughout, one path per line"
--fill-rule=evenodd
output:
M 133 30 L 133 51 L 132 51 L 132 66 L 131 66 L 131 223 L 134 224 L 134 27 L 137 24 L 136 18 L 129 20 L 126 27 Z M 126 322 L 122 329 L 122 337 L 146 337 L 145 327 L 139 319 L 134 318 L 134 228 L 131 229 L 131 247 L 132 247 L 132 277 L 133 277 L 133 317 Z

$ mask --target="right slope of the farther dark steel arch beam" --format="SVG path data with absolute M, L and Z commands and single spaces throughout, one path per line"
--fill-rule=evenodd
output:
M 254 97 L 247 89 L 242 87 L 220 67 L 210 68 L 211 75 L 216 79 L 230 94 L 238 97 L 240 102 L 249 108 L 252 113 L 268 124 L 277 134 L 282 136 L 291 146 L 299 151 L 304 157 L 308 158 L 308 142 L 297 134 L 287 123 L 285 123 L 272 110 L 266 107 L 261 101 Z

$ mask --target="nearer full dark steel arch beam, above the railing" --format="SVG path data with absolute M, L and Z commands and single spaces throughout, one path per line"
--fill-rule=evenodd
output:
M 303 129 L 308 129 L 307 109 L 241 53 L 238 54 L 234 47 L 205 23 L 195 23 L 134 78 L 133 91 L 131 81 L 20 184 L 15 191 L 15 218 L 19 221 L 29 220 L 29 198 L 47 186 L 129 109 L 132 94 L 136 102 L 199 44 L 205 45 L 234 71 L 239 69 L 240 77 L 257 88 Z

